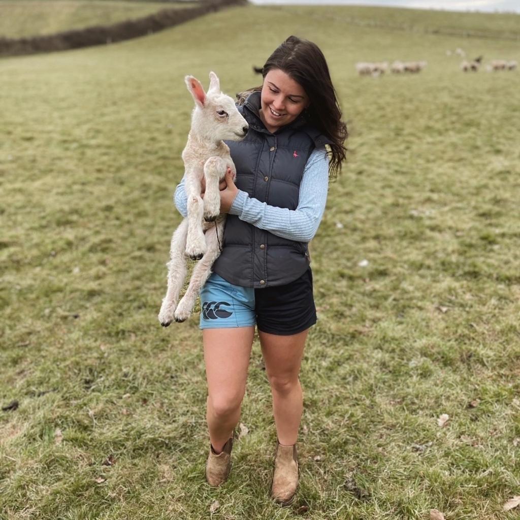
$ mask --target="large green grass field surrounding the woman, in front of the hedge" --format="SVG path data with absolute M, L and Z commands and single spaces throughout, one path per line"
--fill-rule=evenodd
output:
M 520 73 L 466 75 L 446 56 L 518 47 L 346 21 L 356 12 L 235 8 L 0 61 L 0 398 L 19 403 L 0 412 L 2 520 L 518 518 L 502 504 L 520 495 Z M 198 313 L 168 329 L 157 313 L 180 222 L 184 75 L 207 85 L 214 70 L 239 92 L 291 33 L 327 56 L 350 137 L 311 244 L 301 480 L 279 508 L 258 343 L 249 433 L 211 489 Z M 355 74 L 384 59 L 428 65 Z

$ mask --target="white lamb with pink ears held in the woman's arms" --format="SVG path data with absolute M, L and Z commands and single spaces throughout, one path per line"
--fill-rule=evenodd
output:
M 211 266 L 220 254 L 225 215 L 220 215 L 219 181 L 227 171 L 236 176 L 235 164 L 224 139 L 239 141 L 249 125 L 238 111 L 235 102 L 220 92 L 220 82 L 210 72 L 207 94 L 193 76 L 185 77 L 186 86 L 195 101 L 191 115 L 188 142 L 182 157 L 188 198 L 188 216 L 172 236 L 168 287 L 163 298 L 159 321 L 167 327 L 175 319 L 185 321 L 193 310 L 200 288 L 211 274 Z M 201 198 L 202 178 L 205 179 L 204 199 Z M 198 259 L 188 289 L 178 301 L 187 274 L 186 258 Z

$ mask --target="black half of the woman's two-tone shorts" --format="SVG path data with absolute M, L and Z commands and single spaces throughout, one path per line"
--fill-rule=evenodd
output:
M 310 267 L 287 285 L 255 289 L 256 326 L 259 331 L 289 336 L 316 323 L 313 274 Z

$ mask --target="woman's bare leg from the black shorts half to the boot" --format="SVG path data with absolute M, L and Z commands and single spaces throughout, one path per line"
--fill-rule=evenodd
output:
M 298 374 L 307 334 L 308 329 L 290 336 L 258 331 L 271 385 L 276 431 L 283 446 L 296 444 L 302 419 L 303 394 Z

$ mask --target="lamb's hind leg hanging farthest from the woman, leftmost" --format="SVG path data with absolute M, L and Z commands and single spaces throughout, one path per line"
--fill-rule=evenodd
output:
M 187 232 L 188 220 L 185 218 L 173 233 L 170 246 L 170 262 L 166 264 L 168 266 L 168 288 L 158 316 L 163 327 L 167 327 L 174 320 L 179 293 L 186 278 L 187 268 L 184 249 L 186 247 Z

